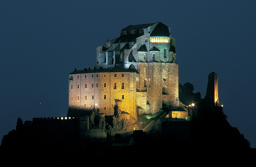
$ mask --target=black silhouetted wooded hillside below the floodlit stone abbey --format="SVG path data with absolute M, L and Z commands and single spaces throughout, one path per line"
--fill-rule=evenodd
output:
M 222 108 L 208 108 L 198 95 L 191 94 L 191 97 L 197 107 L 190 122 L 190 139 L 134 131 L 133 136 L 120 139 L 117 135 L 114 141 L 106 139 L 105 143 L 95 143 L 78 136 L 65 138 L 65 135 L 51 134 L 42 136 L 48 141 L 55 140 L 52 146 L 46 146 L 34 134 L 23 131 L 23 122 L 18 119 L 16 130 L 2 139 L 1 163 L 9 166 L 251 165 L 256 158 L 255 149 L 250 148 L 250 142 L 236 127 L 230 126 Z M 186 102 L 189 104 L 191 99 L 186 98 L 183 104 Z M 101 119 L 99 117 L 98 122 L 102 122 Z M 105 122 L 97 125 L 106 126 Z M 128 143 L 132 137 L 132 145 L 112 145 Z

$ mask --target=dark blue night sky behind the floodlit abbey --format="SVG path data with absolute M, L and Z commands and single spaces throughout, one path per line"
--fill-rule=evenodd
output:
M 218 74 L 231 126 L 256 147 L 256 1 L 0 1 L 0 139 L 33 117 L 65 117 L 68 73 L 129 25 L 161 21 L 176 39 L 179 82 L 206 95 Z

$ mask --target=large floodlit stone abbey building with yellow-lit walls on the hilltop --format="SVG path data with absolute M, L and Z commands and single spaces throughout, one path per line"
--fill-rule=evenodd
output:
M 131 25 L 97 47 L 94 68 L 69 74 L 69 112 L 117 108 L 137 119 L 178 107 L 178 64 L 171 28 L 161 22 Z

